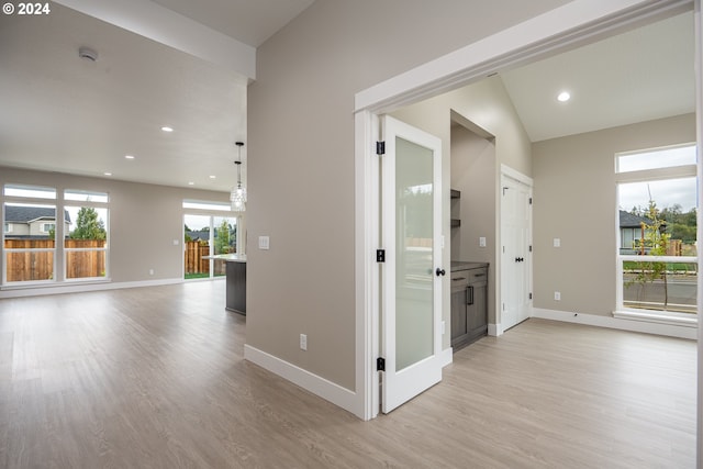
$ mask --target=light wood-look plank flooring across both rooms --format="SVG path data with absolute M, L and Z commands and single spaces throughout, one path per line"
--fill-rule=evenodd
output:
M 0 300 L 0 467 L 695 466 L 694 342 L 528 320 L 361 422 L 245 361 L 223 290 Z

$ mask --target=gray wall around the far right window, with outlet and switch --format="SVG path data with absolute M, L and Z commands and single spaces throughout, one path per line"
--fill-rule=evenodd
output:
M 695 114 L 533 145 L 534 306 L 615 310 L 615 153 L 695 142 Z M 555 237 L 561 247 L 553 247 Z M 554 292 L 561 301 L 554 300 Z

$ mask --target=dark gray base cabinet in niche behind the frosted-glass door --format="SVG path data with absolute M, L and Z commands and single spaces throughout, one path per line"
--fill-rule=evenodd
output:
M 451 268 L 451 347 L 488 334 L 488 264 L 456 263 Z

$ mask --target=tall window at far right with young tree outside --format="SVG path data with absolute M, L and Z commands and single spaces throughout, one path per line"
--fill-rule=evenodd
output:
M 695 164 L 694 145 L 616 155 L 620 311 L 696 313 Z

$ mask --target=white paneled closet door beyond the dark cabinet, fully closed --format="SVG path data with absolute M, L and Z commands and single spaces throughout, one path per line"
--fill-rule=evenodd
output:
M 532 187 L 503 176 L 501 189 L 501 328 L 529 316 L 532 291 Z

